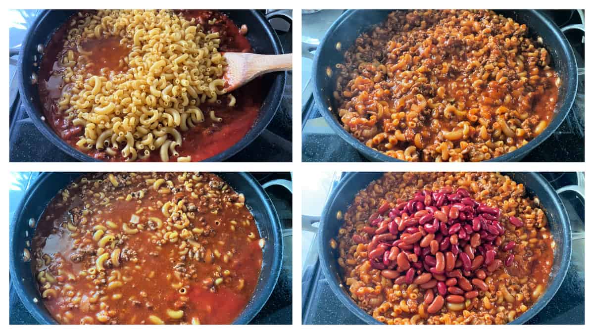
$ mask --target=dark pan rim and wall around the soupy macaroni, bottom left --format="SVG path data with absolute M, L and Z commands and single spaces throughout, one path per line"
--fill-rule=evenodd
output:
M 62 179 L 62 182 L 53 182 L 50 179 L 55 177 L 55 174 L 64 175 L 65 178 Z M 31 272 L 31 263 L 23 262 L 23 250 L 24 248 L 30 248 L 26 246 L 26 241 L 31 240 L 37 225 L 35 223 L 35 226 L 31 228 L 28 222 L 30 218 L 37 222 L 49 201 L 58 191 L 83 174 L 86 174 L 86 172 L 44 172 L 40 174 L 24 194 L 10 225 L 10 279 L 23 305 L 41 324 L 57 324 L 58 322 L 53 319 L 43 306 L 42 297 L 37 289 L 37 282 L 34 281 Z M 273 202 L 251 174 L 245 172 L 214 172 L 214 174 L 225 179 L 236 191 L 245 194 L 248 207 L 258 225 L 258 231 L 260 231 L 261 237 L 266 238 L 258 285 L 249 303 L 241 314 L 233 320 L 233 324 L 247 324 L 266 304 L 279 279 L 284 252 L 282 228 Z M 244 184 L 239 185 L 238 182 Z M 38 200 L 39 197 L 42 197 L 43 200 Z M 257 200 L 254 200 L 254 198 Z M 24 212 L 24 210 L 27 211 Z M 34 298 L 36 298 L 37 302 L 34 301 Z

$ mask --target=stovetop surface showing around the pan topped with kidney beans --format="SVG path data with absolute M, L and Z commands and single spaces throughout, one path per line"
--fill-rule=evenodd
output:
M 341 175 L 335 175 L 328 194 L 339 182 Z M 555 189 L 576 184 L 583 187 L 583 174 L 580 179 L 575 172 L 546 172 L 542 175 Z M 584 232 L 584 202 L 583 198 L 571 191 L 562 193 L 560 197 L 565 204 L 574 232 L 570 267 L 557 294 L 527 324 L 584 324 L 584 239 L 578 237 Z M 307 257 L 304 256 L 308 260 L 304 264 L 301 283 L 302 323 L 364 324 L 330 289 L 317 256 L 317 238 L 310 240 L 310 244 L 303 245 L 309 252 Z

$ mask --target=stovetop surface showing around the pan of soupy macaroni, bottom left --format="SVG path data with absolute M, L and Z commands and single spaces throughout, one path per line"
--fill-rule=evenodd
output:
M 251 173 L 254 178 L 264 184 L 273 179 L 291 179 L 286 172 L 258 172 Z M 9 194 L 9 216 L 12 225 L 12 218 L 20 204 L 21 199 L 33 181 L 39 176 L 38 172 L 11 172 L 10 194 Z M 292 196 L 282 187 L 267 188 L 266 193 L 274 204 L 276 212 L 283 228 L 283 266 L 280 272 L 279 281 L 274 291 L 268 298 L 262 310 L 254 317 L 250 324 L 291 324 L 293 317 L 292 309 L 292 285 L 293 285 L 293 260 L 292 260 L 292 237 L 287 233 L 292 228 Z M 12 228 L 12 226 L 11 226 Z M 10 324 L 38 324 L 37 320 L 27 311 L 21 303 L 17 292 L 12 288 L 10 281 Z

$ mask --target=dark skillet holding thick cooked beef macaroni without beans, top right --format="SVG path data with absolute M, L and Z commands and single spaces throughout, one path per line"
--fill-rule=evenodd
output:
M 334 69 L 336 64 L 343 62 L 343 52 L 355 42 L 359 34 L 385 21 L 391 11 L 349 10 L 344 12 L 326 31 L 324 39 L 317 46 L 312 70 L 315 103 L 320 107 L 318 109 L 320 109 L 320 113 L 324 116 L 330 128 L 342 140 L 355 147 L 359 153 L 375 162 L 402 162 L 403 160 L 384 155 L 365 146 L 364 143 L 361 143 L 342 128 L 339 119 L 337 119 L 336 101 L 332 96 L 336 78 L 334 76 L 328 77 L 326 71 L 328 67 Z M 557 108 L 555 108 L 555 114 L 557 115 L 552 119 L 551 124 L 539 136 L 529 141 L 525 146 L 520 147 L 520 149 L 488 160 L 489 162 L 517 162 L 551 136 L 567 116 L 577 92 L 577 64 L 565 35 L 541 11 L 495 10 L 495 12 L 526 24 L 532 37 L 542 37 L 545 48 L 551 54 L 551 66 L 561 78 Z M 340 52 L 336 50 L 336 43 L 338 42 L 342 44 L 342 51 Z M 333 73 L 336 73 L 336 71 L 333 71 Z

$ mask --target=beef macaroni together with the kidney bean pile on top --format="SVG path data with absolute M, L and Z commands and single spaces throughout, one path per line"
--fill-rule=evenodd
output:
M 539 199 L 498 173 L 387 173 L 344 219 L 330 246 L 350 297 L 380 322 L 504 324 L 549 281 Z

